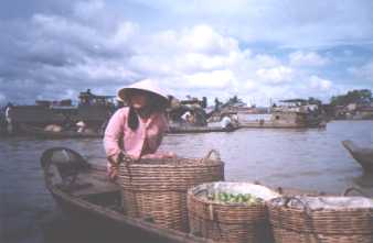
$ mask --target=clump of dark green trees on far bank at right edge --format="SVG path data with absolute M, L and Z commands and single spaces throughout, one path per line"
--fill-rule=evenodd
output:
M 355 89 L 345 95 L 333 96 L 330 99 L 331 106 L 347 106 L 349 103 L 369 103 L 372 99 L 372 91 L 369 89 Z

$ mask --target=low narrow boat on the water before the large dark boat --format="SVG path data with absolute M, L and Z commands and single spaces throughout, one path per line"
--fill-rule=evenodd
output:
M 79 133 L 75 131 L 61 131 L 61 132 L 52 132 L 44 131 L 41 128 L 20 124 L 20 128 L 23 133 L 28 135 L 32 135 L 40 139 L 93 139 L 93 137 L 103 137 L 103 134 L 99 133 Z

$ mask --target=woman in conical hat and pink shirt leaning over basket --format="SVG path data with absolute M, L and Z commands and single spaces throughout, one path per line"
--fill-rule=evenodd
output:
M 168 130 L 164 115 L 168 97 L 151 81 L 143 80 L 118 91 L 128 107 L 110 118 L 104 136 L 109 177 L 115 179 L 121 159 L 167 158 L 173 153 L 156 153 Z

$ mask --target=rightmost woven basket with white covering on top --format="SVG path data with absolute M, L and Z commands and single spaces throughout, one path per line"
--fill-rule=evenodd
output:
M 281 197 L 267 203 L 276 243 L 372 243 L 373 200 Z

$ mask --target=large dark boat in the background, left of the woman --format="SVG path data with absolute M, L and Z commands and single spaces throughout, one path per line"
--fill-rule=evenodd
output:
M 9 118 L 12 134 L 22 134 L 21 124 L 44 128 L 49 124 L 74 126 L 84 121 L 89 128 L 99 129 L 105 124 L 118 106 L 114 96 L 97 96 L 88 89 L 79 93 L 77 106 L 72 100 L 36 100 L 32 106 L 11 106 Z

